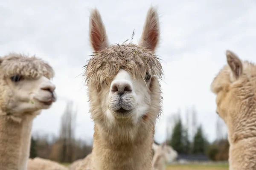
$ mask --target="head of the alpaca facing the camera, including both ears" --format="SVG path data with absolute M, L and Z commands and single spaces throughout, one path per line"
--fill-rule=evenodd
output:
M 163 74 L 154 55 L 159 34 L 157 11 L 150 8 L 139 45 L 110 45 L 99 11 L 92 11 L 89 37 L 94 53 L 84 76 L 95 122 L 125 126 L 155 121 L 161 111 Z

